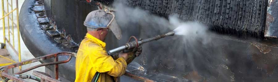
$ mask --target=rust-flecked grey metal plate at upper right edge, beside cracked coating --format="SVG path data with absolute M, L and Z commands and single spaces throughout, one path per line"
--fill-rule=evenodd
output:
M 277 38 L 278 36 L 278 1 L 268 0 L 267 18 L 264 31 L 264 37 Z

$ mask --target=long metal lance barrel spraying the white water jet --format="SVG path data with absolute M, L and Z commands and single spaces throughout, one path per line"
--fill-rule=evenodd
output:
M 141 44 L 144 44 L 144 43 L 147 43 L 147 42 L 150 42 L 150 41 L 158 40 L 158 39 L 164 38 L 166 36 L 173 36 L 173 35 L 175 35 L 174 31 L 168 32 L 168 33 L 163 34 L 163 35 L 156 35 L 156 36 L 154 36 L 152 38 L 143 39 L 141 41 L 138 41 L 138 45 L 141 45 Z M 117 47 L 115 49 L 112 49 L 112 50 L 108 51 L 107 53 L 109 55 L 112 55 L 112 54 L 114 54 L 116 52 L 123 51 L 125 49 L 133 49 L 133 48 L 136 47 L 136 45 L 137 45 L 137 42 L 136 41 L 132 41 L 132 42 L 126 43 L 124 46 L 120 46 L 120 47 Z

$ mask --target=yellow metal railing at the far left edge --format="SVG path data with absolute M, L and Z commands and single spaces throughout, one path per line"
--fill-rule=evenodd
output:
M 9 2 L 10 1 L 10 2 Z M 20 33 L 19 33 L 19 7 L 18 7 L 18 0 L 15 0 L 16 2 L 16 8 L 13 9 L 13 0 L 6 0 L 6 3 L 4 2 L 4 0 L 2 0 L 2 18 L 0 20 L 2 20 L 3 22 L 3 43 L 8 44 L 13 51 L 18 55 L 18 59 L 19 62 L 21 62 L 21 51 L 20 51 Z M 6 11 L 4 8 L 4 3 L 6 4 Z M 11 10 L 11 11 L 10 11 Z M 16 11 L 16 20 L 14 20 L 14 11 Z M 7 20 L 5 20 L 5 18 L 7 18 Z M 11 28 L 10 28 L 10 20 L 11 20 Z M 8 29 L 6 29 L 5 23 L 7 22 L 7 27 Z M 17 42 L 18 42 L 18 51 L 16 51 L 15 49 L 15 32 L 14 32 L 14 27 L 17 27 Z M 6 37 L 5 32 L 8 32 L 8 38 Z M 11 44 L 11 35 L 12 35 L 12 44 Z M 6 47 L 5 47 L 6 48 Z M 15 61 L 13 61 L 12 59 L 6 58 L 2 55 L 0 55 L 0 57 L 5 58 L 13 63 L 15 63 Z M 21 70 L 21 67 L 19 67 L 19 70 Z

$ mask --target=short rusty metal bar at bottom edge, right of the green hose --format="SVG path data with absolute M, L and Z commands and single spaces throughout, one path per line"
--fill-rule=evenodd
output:
M 49 82 L 61 82 L 59 80 L 52 79 L 51 76 L 49 76 L 48 74 L 46 74 L 44 72 L 34 71 L 32 74 L 35 75 L 35 76 L 40 77 L 41 82 L 45 82 L 45 81 L 49 81 Z

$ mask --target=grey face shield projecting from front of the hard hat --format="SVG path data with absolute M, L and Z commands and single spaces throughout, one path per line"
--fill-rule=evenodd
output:
M 108 16 L 110 17 L 110 19 L 112 20 L 113 15 L 112 14 L 108 14 Z M 121 39 L 122 38 L 122 31 L 121 28 L 119 27 L 116 19 L 114 19 L 110 25 L 109 25 L 110 30 L 113 32 L 113 34 L 116 36 L 117 39 Z

